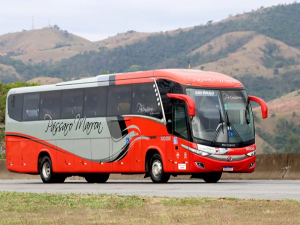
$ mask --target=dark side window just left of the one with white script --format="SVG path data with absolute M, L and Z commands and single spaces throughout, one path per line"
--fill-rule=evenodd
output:
M 131 85 L 108 87 L 107 116 L 130 113 Z

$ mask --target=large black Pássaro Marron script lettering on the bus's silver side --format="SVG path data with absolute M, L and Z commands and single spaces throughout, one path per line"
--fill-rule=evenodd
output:
M 49 131 L 53 136 L 57 132 L 62 132 L 63 135 L 66 136 L 67 133 L 72 129 L 81 130 L 87 135 L 92 130 L 96 130 L 98 133 L 101 133 L 103 130 L 101 122 L 86 121 L 86 117 L 80 118 L 80 114 L 76 115 L 73 122 L 53 121 L 52 117 L 49 114 L 45 114 L 44 120 L 48 120 L 45 132 Z

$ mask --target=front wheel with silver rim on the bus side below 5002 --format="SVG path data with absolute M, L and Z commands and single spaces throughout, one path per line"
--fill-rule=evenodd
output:
M 170 174 L 163 171 L 163 164 L 158 153 L 151 157 L 149 174 L 153 183 L 166 183 L 170 178 Z

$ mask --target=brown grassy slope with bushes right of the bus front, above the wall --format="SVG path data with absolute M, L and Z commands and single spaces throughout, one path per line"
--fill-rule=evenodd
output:
M 300 151 L 300 89 L 267 102 L 268 118 L 262 119 L 260 107 L 253 109 L 255 130 L 270 146 L 259 145 L 268 152 Z

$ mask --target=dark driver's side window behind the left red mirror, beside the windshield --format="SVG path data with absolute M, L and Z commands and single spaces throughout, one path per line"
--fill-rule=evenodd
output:
M 184 105 L 174 105 L 174 133 L 187 138 L 186 114 Z

